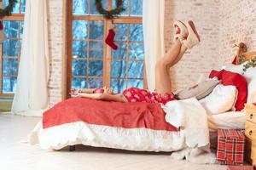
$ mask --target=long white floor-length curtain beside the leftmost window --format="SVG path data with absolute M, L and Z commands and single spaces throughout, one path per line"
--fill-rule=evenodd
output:
M 46 0 L 26 0 L 24 32 L 12 112 L 42 116 L 49 107 L 49 49 Z

